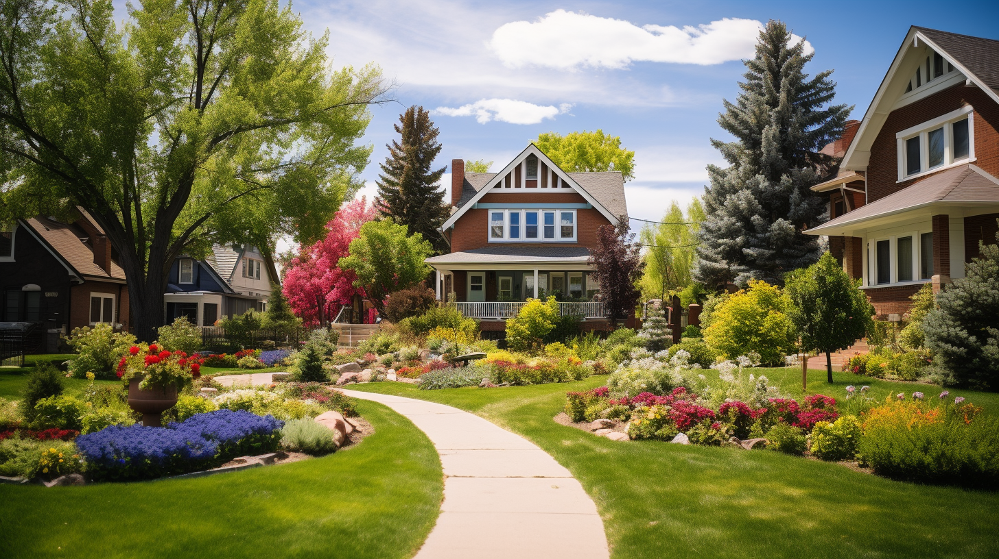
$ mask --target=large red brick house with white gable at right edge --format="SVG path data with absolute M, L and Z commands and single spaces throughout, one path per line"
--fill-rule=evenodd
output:
M 830 250 L 880 317 L 926 282 L 964 278 L 999 219 L 999 41 L 912 27 L 859 123 L 827 150 L 839 171 L 812 188 Z

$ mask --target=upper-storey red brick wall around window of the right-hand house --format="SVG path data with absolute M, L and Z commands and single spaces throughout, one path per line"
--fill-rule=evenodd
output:
M 940 115 L 956 111 L 966 104 L 974 107 L 974 165 L 999 176 L 999 105 L 977 87 L 955 86 L 892 111 L 871 145 L 867 167 L 867 202 L 894 194 L 920 177 L 896 184 L 898 180 L 898 143 L 895 134 Z

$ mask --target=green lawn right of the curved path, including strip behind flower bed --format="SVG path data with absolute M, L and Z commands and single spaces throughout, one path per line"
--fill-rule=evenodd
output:
M 758 372 L 788 386 L 796 377 L 792 393 L 800 395 L 800 369 L 787 370 L 786 378 L 778 370 Z M 848 383 L 885 394 L 898 384 L 837 374 L 829 390 L 824 371 L 810 376 L 810 390 L 835 394 Z M 566 390 L 605 381 L 489 390 L 424 391 L 401 382 L 351 388 L 451 404 L 526 436 L 596 502 L 615 559 L 999 556 L 994 492 L 891 481 L 769 451 L 614 442 L 551 420 Z M 938 393 L 927 385 L 904 388 Z M 996 408 L 994 394 L 967 397 Z

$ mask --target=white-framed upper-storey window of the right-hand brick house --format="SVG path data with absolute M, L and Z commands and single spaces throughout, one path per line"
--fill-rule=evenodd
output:
M 966 105 L 896 134 L 898 182 L 975 161 L 972 111 Z

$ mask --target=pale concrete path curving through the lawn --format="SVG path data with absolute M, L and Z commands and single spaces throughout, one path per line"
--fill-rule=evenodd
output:
M 450 405 L 343 391 L 405 415 L 441 454 L 441 516 L 417 559 L 609 557 L 593 501 L 532 442 Z

